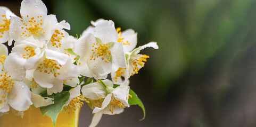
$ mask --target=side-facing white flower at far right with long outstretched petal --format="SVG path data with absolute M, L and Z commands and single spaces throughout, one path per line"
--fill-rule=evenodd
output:
M 152 47 L 154 49 L 158 49 L 158 45 L 156 44 L 156 42 L 150 42 L 141 47 L 134 49 L 131 52 L 126 52 L 127 68 L 119 68 L 117 71 L 112 70 L 112 72 L 111 72 L 111 77 L 112 77 L 112 80 L 114 81 L 114 83 L 126 84 L 126 83 L 123 83 L 121 76 L 125 77 L 125 81 L 128 81 L 128 78 L 130 78 L 130 76 L 138 74 L 139 69 L 144 67 L 146 59 L 149 58 L 149 56 L 147 56 L 147 55 L 141 55 L 138 53 L 139 53 L 139 51 L 141 51 L 147 47 Z

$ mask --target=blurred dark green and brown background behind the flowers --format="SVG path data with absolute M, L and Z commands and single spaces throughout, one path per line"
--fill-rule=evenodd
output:
M 138 32 L 150 56 L 130 78 L 146 108 L 104 115 L 98 126 L 256 126 L 256 1 L 43 1 L 76 37 L 90 21 Z M 19 15 L 21 1 L 1 1 Z M 92 111 L 80 112 L 79 127 Z

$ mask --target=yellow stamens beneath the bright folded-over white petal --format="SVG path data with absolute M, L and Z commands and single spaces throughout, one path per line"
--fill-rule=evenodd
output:
M 54 77 L 57 77 L 57 75 L 60 75 L 60 73 L 57 72 L 57 70 L 60 70 L 60 67 L 62 66 L 57 64 L 55 60 L 45 58 L 44 61 L 37 68 L 40 69 L 39 72 L 53 74 Z

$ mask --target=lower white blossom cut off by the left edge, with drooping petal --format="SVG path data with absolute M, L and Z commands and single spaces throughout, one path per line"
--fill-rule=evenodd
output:
M 28 86 L 19 77 L 9 73 L 4 67 L 10 64 L 5 61 L 5 55 L 0 57 L 0 113 L 10 110 L 10 106 L 16 111 L 26 111 L 32 105 L 31 92 Z

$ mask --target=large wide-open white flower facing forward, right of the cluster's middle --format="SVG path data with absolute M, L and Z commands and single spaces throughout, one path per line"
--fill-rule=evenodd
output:
M 125 53 L 113 21 L 97 23 L 92 33 L 86 33 L 75 43 L 74 52 L 80 56 L 78 67 L 81 75 L 104 79 L 111 72 L 126 67 Z

